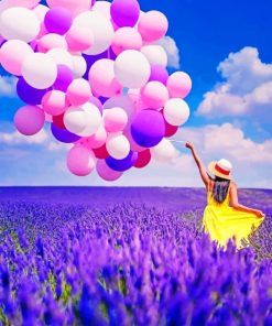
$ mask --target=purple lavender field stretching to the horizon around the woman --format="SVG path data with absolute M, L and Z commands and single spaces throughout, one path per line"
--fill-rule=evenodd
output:
M 1 325 L 272 325 L 272 191 L 236 252 L 199 188 L 0 188 Z

